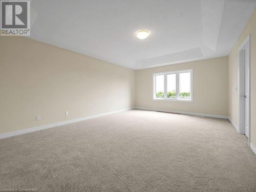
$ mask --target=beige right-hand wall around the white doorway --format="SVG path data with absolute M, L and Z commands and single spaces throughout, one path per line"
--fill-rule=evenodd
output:
M 229 117 L 238 124 L 238 50 L 248 35 L 251 35 L 251 142 L 256 146 L 256 11 L 228 56 L 229 66 Z

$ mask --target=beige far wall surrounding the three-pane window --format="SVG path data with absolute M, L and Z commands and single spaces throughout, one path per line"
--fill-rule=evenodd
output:
M 182 69 L 193 69 L 194 101 L 153 100 L 153 73 Z M 135 93 L 138 107 L 227 116 L 228 58 L 226 56 L 138 70 Z

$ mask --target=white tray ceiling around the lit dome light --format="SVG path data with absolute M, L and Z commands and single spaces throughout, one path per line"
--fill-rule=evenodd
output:
M 33 0 L 31 36 L 131 69 L 228 55 L 256 0 Z M 135 32 L 151 35 L 139 40 Z

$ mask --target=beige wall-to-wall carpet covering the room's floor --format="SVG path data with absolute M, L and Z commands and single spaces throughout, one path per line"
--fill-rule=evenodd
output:
M 0 188 L 256 191 L 228 120 L 132 110 L 0 140 Z

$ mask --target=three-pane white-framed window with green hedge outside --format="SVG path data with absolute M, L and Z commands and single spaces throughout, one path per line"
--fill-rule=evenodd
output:
M 192 70 L 154 74 L 154 99 L 192 101 Z

